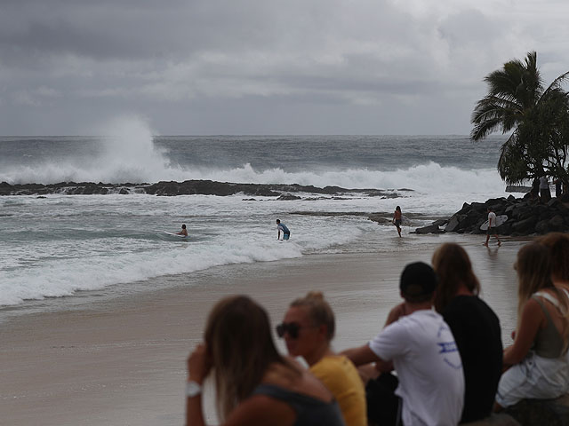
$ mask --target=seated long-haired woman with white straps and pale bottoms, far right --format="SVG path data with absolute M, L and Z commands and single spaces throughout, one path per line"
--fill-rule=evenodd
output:
M 504 351 L 509 369 L 498 385 L 496 409 L 523 398 L 557 398 L 569 384 L 569 295 L 551 280 L 549 248 L 539 242 L 520 248 L 515 269 L 517 330 Z

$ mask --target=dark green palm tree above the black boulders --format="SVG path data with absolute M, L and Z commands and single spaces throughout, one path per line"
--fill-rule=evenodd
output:
M 567 146 L 569 98 L 559 75 L 546 90 L 535 51 L 525 60 L 514 59 L 486 75 L 488 94 L 472 113 L 470 138 L 485 138 L 496 130 L 511 135 L 501 146 L 498 171 L 508 184 L 548 175 L 569 181 Z

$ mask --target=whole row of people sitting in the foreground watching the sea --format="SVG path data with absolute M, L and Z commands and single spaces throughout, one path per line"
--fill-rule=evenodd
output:
M 322 293 L 291 302 L 276 335 L 248 296 L 214 305 L 204 343 L 188 358 L 186 422 L 204 425 L 202 386 L 212 375 L 224 425 L 456 425 L 521 400 L 569 392 L 569 235 L 549 233 L 517 253 L 517 327 L 501 325 L 459 244 L 431 264 L 406 264 L 403 302 L 368 343 L 332 349 L 335 319 Z M 304 359 L 304 367 L 298 359 Z

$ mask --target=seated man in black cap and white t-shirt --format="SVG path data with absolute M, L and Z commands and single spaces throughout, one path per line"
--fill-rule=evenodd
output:
M 362 366 L 375 362 L 382 372 L 378 382 L 398 379 L 395 395 L 400 398 L 370 398 L 368 420 L 374 411 L 397 413 L 397 407 L 386 406 L 387 401 L 399 404 L 405 426 L 456 425 L 461 420 L 464 403 L 464 375 L 462 362 L 453 334 L 441 315 L 432 310 L 437 277 L 433 269 L 422 262 L 408 264 L 401 274 L 399 288 L 405 299 L 389 313 L 390 324 L 364 346 L 343 353 Z M 397 379 L 389 375 L 395 368 Z M 371 383 L 374 384 L 372 379 Z M 391 402 L 392 404 L 394 402 Z M 377 410 L 374 409 L 377 406 Z

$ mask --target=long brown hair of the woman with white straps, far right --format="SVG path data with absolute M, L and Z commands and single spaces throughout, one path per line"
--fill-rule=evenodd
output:
M 550 250 L 539 242 L 532 242 L 520 248 L 515 264 L 517 270 L 517 328 L 519 329 L 525 304 L 536 292 L 547 288 L 555 293 L 559 302 L 559 311 L 563 315 L 561 335 L 564 351 L 569 346 L 569 301 L 565 292 L 558 289 L 551 281 Z

